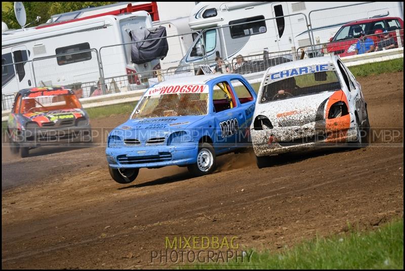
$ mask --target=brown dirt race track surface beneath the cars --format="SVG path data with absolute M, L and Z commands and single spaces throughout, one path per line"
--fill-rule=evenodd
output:
M 368 229 L 403 217 L 403 73 L 358 81 L 372 144 L 286 154 L 260 170 L 248 153 L 227 154 L 209 176 L 141 169 L 135 184 L 119 185 L 104 139 L 24 159 L 2 148 L 2 267 L 153 268 L 151 251 L 170 235 L 227 234 L 274 251 L 344 233 L 348 223 Z

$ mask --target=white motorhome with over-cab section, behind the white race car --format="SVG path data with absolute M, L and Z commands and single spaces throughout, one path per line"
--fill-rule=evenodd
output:
M 341 7 L 361 2 L 200 2 L 190 13 L 193 30 L 204 30 L 180 61 L 178 72 L 191 64 L 209 61 L 217 56 L 228 60 L 237 55 L 249 56 L 267 52 L 292 51 L 310 45 L 305 16 L 311 14 L 317 28 L 315 44 L 326 43 L 348 21 L 376 15 L 403 16 L 400 2 L 372 2 L 361 6 Z M 401 8 L 402 7 L 402 8 Z M 305 16 L 304 16 L 305 15 Z M 280 17 L 285 16 L 285 17 Z M 265 20 L 269 18 L 275 18 Z M 204 34 L 203 34 L 204 33 Z

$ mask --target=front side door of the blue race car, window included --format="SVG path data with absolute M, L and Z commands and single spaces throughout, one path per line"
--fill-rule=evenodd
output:
M 239 126 L 245 124 L 244 109 L 237 103 L 236 96 L 226 80 L 213 85 L 213 115 L 215 121 L 215 151 L 230 151 L 237 147 Z

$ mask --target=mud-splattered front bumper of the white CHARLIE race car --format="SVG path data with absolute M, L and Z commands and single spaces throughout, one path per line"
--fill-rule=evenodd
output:
M 252 144 L 256 156 L 270 156 L 296 150 L 338 146 L 357 139 L 356 127 L 325 132 L 313 125 L 297 127 L 274 127 L 267 130 L 251 130 Z

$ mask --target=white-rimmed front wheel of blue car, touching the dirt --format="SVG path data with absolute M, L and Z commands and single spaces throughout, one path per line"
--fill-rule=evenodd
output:
M 196 176 L 212 173 L 217 166 L 217 158 L 214 148 L 209 143 L 199 145 L 197 153 L 197 162 L 187 166 L 188 171 Z

